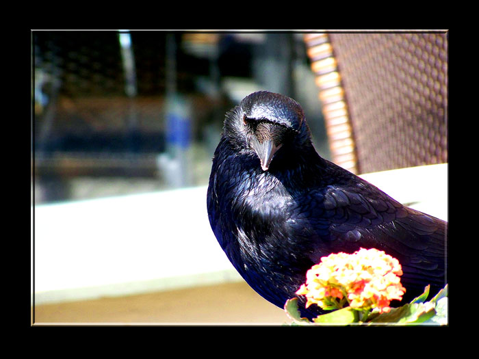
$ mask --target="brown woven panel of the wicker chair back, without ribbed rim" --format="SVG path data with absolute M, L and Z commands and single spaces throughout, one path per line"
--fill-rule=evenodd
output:
M 447 34 L 328 35 L 359 173 L 447 162 Z

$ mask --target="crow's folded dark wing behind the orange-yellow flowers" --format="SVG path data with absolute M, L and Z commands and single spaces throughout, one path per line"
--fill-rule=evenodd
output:
M 447 223 L 409 209 L 370 183 L 328 185 L 309 193 L 315 263 L 328 252 L 377 248 L 398 258 L 404 286 L 445 285 Z M 327 229 L 326 229 L 327 228 Z

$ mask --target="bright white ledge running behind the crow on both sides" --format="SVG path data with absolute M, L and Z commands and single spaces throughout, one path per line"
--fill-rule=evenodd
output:
M 447 164 L 361 176 L 402 203 L 448 219 Z M 195 187 L 32 207 L 32 303 L 242 280 L 211 232 L 206 191 Z

